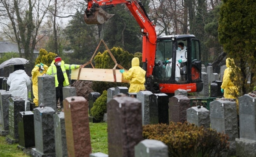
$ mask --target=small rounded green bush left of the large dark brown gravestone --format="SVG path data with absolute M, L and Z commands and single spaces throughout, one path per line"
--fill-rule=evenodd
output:
M 103 120 L 104 113 L 107 113 L 107 91 L 103 91 L 102 95 L 96 99 L 91 108 L 91 115 L 96 120 Z

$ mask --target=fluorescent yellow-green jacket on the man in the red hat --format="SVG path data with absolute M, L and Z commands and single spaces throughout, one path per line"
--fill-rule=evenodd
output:
M 58 87 L 59 86 L 59 82 L 58 82 L 58 79 L 57 79 L 57 68 L 55 66 L 55 60 L 53 60 L 53 62 L 51 62 L 51 66 L 48 68 L 46 74 L 47 75 L 51 75 L 51 76 L 54 76 L 55 77 L 55 87 Z M 70 70 L 70 69 L 77 69 L 79 68 L 80 65 L 76 65 L 76 64 L 65 64 L 65 62 L 62 60 L 61 61 L 61 70 L 63 72 L 63 75 L 64 75 L 64 82 L 63 82 L 63 86 L 68 86 L 69 85 L 69 81 L 68 81 L 68 75 L 66 73 L 66 70 Z

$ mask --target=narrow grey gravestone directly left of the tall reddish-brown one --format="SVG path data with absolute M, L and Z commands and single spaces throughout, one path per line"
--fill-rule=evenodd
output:
M 60 111 L 53 115 L 54 119 L 54 138 L 56 157 L 67 157 L 67 140 L 64 112 Z

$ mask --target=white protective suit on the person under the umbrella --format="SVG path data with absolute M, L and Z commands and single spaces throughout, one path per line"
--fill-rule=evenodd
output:
M 29 77 L 24 70 L 16 70 L 11 73 L 6 82 L 9 86 L 12 96 L 21 97 L 27 103 L 27 86 L 31 84 Z

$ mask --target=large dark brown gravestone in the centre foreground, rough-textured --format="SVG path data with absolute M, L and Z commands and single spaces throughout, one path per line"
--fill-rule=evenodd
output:
M 107 103 L 108 155 L 134 157 L 134 146 L 143 140 L 141 102 L 135 98 L 115 97 Z

